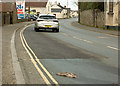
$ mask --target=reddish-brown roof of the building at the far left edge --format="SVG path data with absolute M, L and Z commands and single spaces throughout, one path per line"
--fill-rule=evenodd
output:
M 12 12 L 15 11 L 15 3 L 1 3 L 0 12 Z

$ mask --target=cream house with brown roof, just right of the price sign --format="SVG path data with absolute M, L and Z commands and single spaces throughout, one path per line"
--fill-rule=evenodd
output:
M 45 14 L 46 12 L 46 2 L 25 2 L 25 10 L 28 12 L 29 7 L 30 11 L 33 14 L 39 15 L 39 14 Z

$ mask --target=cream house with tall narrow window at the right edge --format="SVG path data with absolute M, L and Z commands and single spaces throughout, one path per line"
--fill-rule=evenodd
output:
M 107 0 L 105 7 L 105 28 L 120 30 L 120 2 Z

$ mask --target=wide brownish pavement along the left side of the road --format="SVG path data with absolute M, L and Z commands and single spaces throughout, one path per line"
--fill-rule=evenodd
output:
M 22 22 L 2 27 L 2 84 L 15 84 L 16 76 L 12 63 L 11 38 L 15 30 L 31 22 Z

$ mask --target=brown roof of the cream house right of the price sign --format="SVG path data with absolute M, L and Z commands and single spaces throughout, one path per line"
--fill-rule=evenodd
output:
M 28 7 L 46 7 L 47 2 L 25 2 L 25 6 Z

